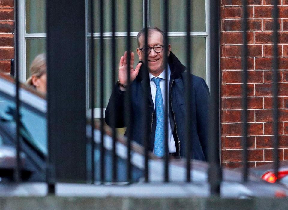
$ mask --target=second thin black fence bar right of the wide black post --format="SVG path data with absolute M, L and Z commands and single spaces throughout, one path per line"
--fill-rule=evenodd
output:
M 100 106 L 101 106 L 101 183 L 105 182 L 105 148 L 104 148 L 104 0 L 100 1 Z

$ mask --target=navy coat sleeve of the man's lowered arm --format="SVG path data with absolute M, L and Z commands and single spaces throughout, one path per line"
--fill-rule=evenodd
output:
M 200 79 L 195 88 L 197 132 L 204 156 L 208 158 L 208 115 L 209 115 L 209 88 L 204 79 Z

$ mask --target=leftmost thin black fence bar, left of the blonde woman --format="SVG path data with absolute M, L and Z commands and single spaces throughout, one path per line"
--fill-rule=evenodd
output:
M 19 116 L 19 109 L 20 109 L 20 100 L 19 100 L 19 37 L 18 37 L 18 23 L 19 23 L 19 17 L 18 17 L 18 1 L 15 0 L 15 57 L 16 57 L 16 69 L 15 69 L 15 84 L 16 84 L 16 115 L 15 115 L 15 121 L 16 121 L 16 165 L 15 165 L 15 171 L 14 171 L 14 180 L 16 182 L 21 181 L 21 168 L 20 168 L 20 116 Z

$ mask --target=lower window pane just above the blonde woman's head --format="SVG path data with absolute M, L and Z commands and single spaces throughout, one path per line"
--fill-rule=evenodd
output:
M 26 40 L 26 79 L 30 75 L 30 65 L 34 58 L 40 54 L 46 52 L 46 39 L 27 39 Z

